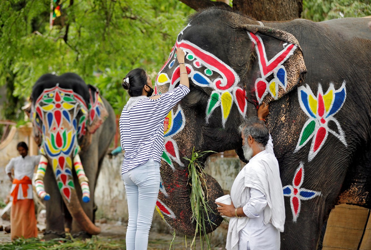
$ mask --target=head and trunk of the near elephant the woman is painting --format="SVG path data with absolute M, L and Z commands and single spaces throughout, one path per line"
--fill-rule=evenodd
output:
M 290 92 L 306 72 L 303 54 L 290 33 L 223 9 L 208 9 L 190 17 L 179 33 L 170 56 L 156 78 L 155 93 L 173 89 L 180 81 L 175 47 L 183 49 L 190 93 L 169 113 L 162 154 L 161 188 L 157 208 L 175 230 L 194 234 L 190 223 L 187 162 L 196 150 L 238 150 L 238 126 L 256 115 L 263 101 L 278 100 Z M 209 204 L 222 196 L 208 176 Z M 212 215 L 213 231 L 221 223 Z

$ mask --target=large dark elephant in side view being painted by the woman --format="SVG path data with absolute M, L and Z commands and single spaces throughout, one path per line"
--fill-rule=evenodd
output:
M 191 91 L 168 115 L 157 201 L 168 225 L 194 234 L 183 157 L 196 147 L 243 158 L 238 127 L 263 101 L 284 185 L 281 249 L 315 249 L 338 203 L 370 208 L 369 21 L 262 23 L 217 8 L 189 18 L 175 46 L 187 52 Z M 173 48 L 155 93 L 173 89 L 179 74 Z M 213 205 L 223 192 L 212 177 L 207 184 Z M 221 222 L 212 220 L 209 232 Z

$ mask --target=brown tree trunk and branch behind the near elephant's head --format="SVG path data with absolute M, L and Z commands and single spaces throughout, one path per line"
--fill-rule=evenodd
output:
M 199 10 L 211 6 L 229 8 L 227 0 L 179 0 L 192 9 Z M 303 10 L 302 0 L 233 0 L 233 10 L 242 12 L 256 20 L 284 21 L 300 18 Z

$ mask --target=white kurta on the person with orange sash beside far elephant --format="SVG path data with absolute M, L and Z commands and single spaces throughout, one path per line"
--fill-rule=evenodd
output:
M 39 164 L 40 156 L 18 156 L 15 158 L 12 158 L 9 163 L 5 167 L 6 174 L 12 173 L 12 169 L 14 169 L 14 179 L 22 180 L 24 176 L 28 176 L 32 180 L 33 172 L 35 171 L 35 166 Z M 21 184 L 24 185 L 24 184 Z M 23 199 L 33 199 L 32 196 L 32 185 L 27 184 L 27 196 L 23 197 L 23 190 L 22 187 L 19 187 L 18 189 L 18 195 L 17 199 L 23 200 Z M 12 191 L 16 187 L 16 184 L 12 185 Z M 10 198 L 13 200 L 13 197 Z

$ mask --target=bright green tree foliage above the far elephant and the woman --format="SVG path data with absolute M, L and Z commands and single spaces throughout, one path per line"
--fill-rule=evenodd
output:
M 7 84 L 14 97 L 24 98 L 42 74 L 74 72 L 98 86 L 117 113 L 128 98 L 122 78 L 144 67 L 154 79 L 185 17 L 194 12 L 178 0 L 56 4 L 61 4 L 62 16 L 50 29 L 50 0 L 1 1 L 0 85 Z

